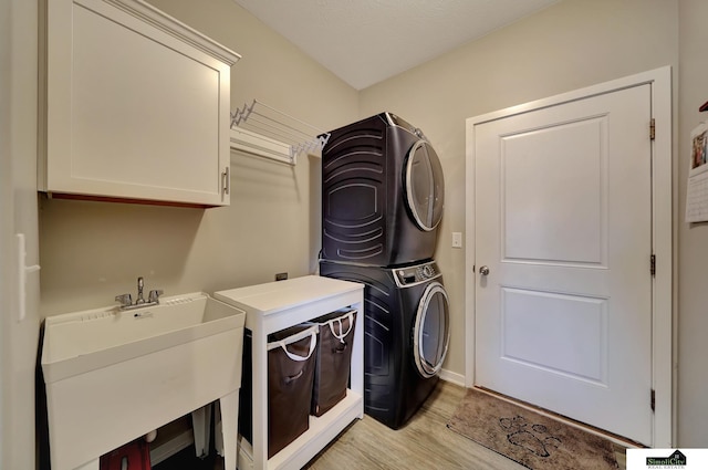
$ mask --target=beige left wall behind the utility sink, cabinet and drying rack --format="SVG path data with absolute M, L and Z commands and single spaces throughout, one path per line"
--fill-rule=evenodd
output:
M 322 129 L 356 118 L 357 93 L 231 0 L 153 4 L 241 54 L 231 105 L 253 98 Z M 185 209 L 42 200 L 44 316 L 112 305 L 136 279 L 165 295 L 311 273 L 320 247 L 320 160 L 293 168 L 231 155 L 231 206 Z

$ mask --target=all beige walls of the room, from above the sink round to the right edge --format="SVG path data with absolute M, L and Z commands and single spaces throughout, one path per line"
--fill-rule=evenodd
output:
M 423 128 L 442 159 L 446 215 L 436 259 L 451 297 L 445 368 L 465 373 L 465 119 L 570 90 L 671 65 L 678 103 L 679 195 L 687 135 L 702 116 L 708 67 L 704 0 L 566 0 L 394 79 L 355 92 L 231 0 L 150 0 L 243 55 L 232 106 L 252 98 L 321 128 L 392 111 Z M 208 6 L 207 6 L 208 4 Z M 680 13 L 680 18 L 679 18 Z M 680 22 L 679 22 L 680 20 Z M 680 24 L 680 41 L 679 41 Z M 679 65 L 680 45 L 680 69 Z M 680 72 L 680 73 L 679 73 Z M 677 87 L 676 84 L 679 86 Z M 677 90 L 680 87 L 680 101 Z M 676 107 L 676 105 L 675 105 Z M 43 315 L 111 304 L 146 288 L 166 294 L 214 291 L 312 272 L 320 247 L 320 161 L 295 168 L 232 155 L 232 205 L 196 210 L 43 200 L 40 205 Z M 679 196 L 683 213 L 683 200 Z M 708 447 L 708 346 L 702 288 L 705 224 L 678 227 L 678 445 Z

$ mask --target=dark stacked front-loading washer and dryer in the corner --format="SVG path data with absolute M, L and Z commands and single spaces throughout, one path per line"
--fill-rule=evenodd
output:
M 435 262 L 444 180 L 420 129 L 392 113 L 322 149 L 320 274 L 364 284 L 364 410 L 398 429 L 439 380 L 449 309 Z

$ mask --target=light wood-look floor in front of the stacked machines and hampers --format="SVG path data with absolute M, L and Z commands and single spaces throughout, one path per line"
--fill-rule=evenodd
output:
M 447 421 L 459 405 L 465 388 L 440 382 L 421 409 L 402 429 L 392 430 L 375 419 L 353 422 L 308 466 L 311 470 L 523 470 L 525 467 L 449 430 Z M 624 451 L 617 447 L 617 461 L 625 469 Z M 197 468 L 175 456 L 156 470 Z M 181 460 L 181 461 L 180 461 Z M 206 462 L 202 462 L 206 463 Z M 216 462 L 200 469 L 222 469 Z M 582 469 L 579 469 L 582 470 Z

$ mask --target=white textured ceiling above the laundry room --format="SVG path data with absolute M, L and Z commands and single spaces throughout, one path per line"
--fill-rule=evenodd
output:
M 559 0 L 235 0 L 355 87 Z

